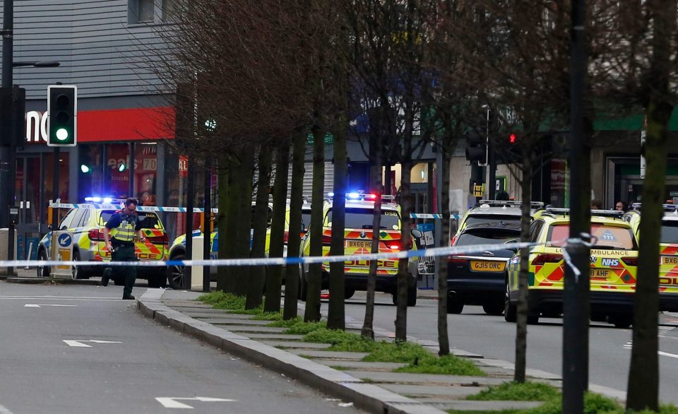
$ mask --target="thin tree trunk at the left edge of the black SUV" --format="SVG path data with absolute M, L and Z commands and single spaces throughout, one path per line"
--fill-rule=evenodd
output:
M 446 146 L 447 147 L 447 146 Z M 441 191 L 441 213 L 443 215 L 440 246 L 447 247 L 450 244 L 450 158 L 448 154 L 452 148 L 442 150 L 442 164 L 438 167 L 442 170 L 443 182 Z M 450 353 L 450 339 L 447 330 L 447 256 L 437 256 L 438 261 L 438 355 Z

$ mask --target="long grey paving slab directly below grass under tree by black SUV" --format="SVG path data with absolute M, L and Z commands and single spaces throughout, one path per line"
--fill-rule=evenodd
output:
M 409 372 L 346 371 L 353 377 L 369 382 L 394 384 L 441 384 L 450 386 L 489 386 L 504 384 L 506 379 L 492 377 L 468 377 L 463 375 L 410 374 Z

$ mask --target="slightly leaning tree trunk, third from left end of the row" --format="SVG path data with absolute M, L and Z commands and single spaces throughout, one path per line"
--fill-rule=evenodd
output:
M 266 256 L 266 224 L 268 223 L 268 189 L 272 157 L 268 148 L 259 148 L 258 183 L 256 186 L 256 205 L 254 207 L 254 226 L 252 227 L 251 257 L 260 259 Z M 224 234 L 226 235 L 226 234 Z M 262 292 L 266 283 L 266 267 L 251 266 L 250 282 L 247 286 L 245 309 L 255 309 L 261 304 Z

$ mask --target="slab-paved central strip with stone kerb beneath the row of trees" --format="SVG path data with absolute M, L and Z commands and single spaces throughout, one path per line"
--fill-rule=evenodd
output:
M 433 299 L 434 292 L 421 290 L 420 297 Z M 409 374 L 393 372 L 405 364 L 393 362 L 364 362 L 365 353 L 328 351 L 326 343 L 302 342 L 302 336 L 283 333 L 285 329 L 266 326 L 269 321 L 253 319 L 251 315 L 232 314 L 213 309 L 198 302 L 200 292 L 149 289 L 138 298 L 138 307 L 158 324 L 169 326 L 184 335 L 238 355 L 246 360 L 272 369 L 297 381 L 313 386 L 336 398 L 351 401 L 355 406 L 372 413 L 444 413 L 446 410 L 506 410 L 533 408 L 540 403 L 528 401 L 466 401 L 489 386 L 513 380 L 511 362 L 493 360 L 463 350 L 451 350 L 460 357 L 469 358 L 487 374 L 487 377 L 462 377 L 437 374 Z M 299 304 L 303 314 L 303 304 Z M 359 333 L 361 324 L 347 323 L 346 330 Z M 376 341 L 393 341 L 395 334 L 385 329 L 374 329 Z M 438 344 L 421 343 L 432 353 Z M 561 386 L 558 375 L 528 369 L 531 381 Z M 619 391 L 592 386 L 592 391 L 624 400 Z

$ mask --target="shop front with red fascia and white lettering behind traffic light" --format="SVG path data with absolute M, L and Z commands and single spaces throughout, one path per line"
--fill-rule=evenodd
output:
M 18 257 L 27 257 L 30 240 L 47 232 L 47 206 L 57 198 L 83 203 L 86 196 L 133 196 L 146 206 L 165 201 L 178 206 L 180 198 L 172 199 L 171 194 L 184 186 L 178 182 L 181 156 L 170 145 L 173 119 L 170 107 L 80 111 L 78 145 L 57 151 L 47 147 L 44 113 L 28 112 L 26 142 L 16 156 Z

